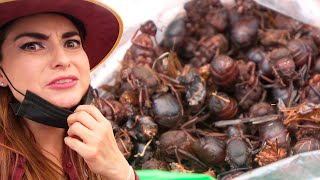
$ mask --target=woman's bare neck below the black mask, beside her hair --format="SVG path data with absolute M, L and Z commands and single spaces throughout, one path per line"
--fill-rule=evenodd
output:
M 65 129 L 25 120 L 44 156 L 62 166 Z

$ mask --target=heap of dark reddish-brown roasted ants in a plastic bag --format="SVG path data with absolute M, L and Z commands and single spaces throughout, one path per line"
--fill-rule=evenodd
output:
M 252 0 L 234 1 L 189 1 L 159 49 L 154 24 L 136 32 L 121 84 L 104 97 L 112 106 L 100 108 L 129 119 L 127 127 L 111 122 L 133 166 L 212 168 L 227 179 L 291 150 L 319 149 L 320 33 Z

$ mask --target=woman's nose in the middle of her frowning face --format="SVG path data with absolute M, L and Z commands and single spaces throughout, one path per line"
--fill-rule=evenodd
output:
M 65 69 L 69 67 L 71 58 L 63 47 L 55 48 L 52 57 L 52 68 Z

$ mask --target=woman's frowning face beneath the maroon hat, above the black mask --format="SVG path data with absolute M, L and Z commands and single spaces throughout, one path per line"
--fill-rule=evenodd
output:
M 89 87 L 90 66 L 79 32 L 63 16 L 38 14 L 19 19 L 9 28 L 1 52 L 1 67 L 24 94 L 29 90 L 56 106 L 70 108 Z M 0 82 L 23 101 L 24 96 L 1 71 Z

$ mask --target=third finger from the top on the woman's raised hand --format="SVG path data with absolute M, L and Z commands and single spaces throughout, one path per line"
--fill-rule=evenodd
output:
M 67 134 L 71 137 L 79 137 L 85 144 L 88 144 L 90 140 L 95 141 L 96 139 L 94 132 L 92 132 L 79 122 L 73 123 L 69 127 Z

